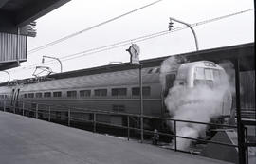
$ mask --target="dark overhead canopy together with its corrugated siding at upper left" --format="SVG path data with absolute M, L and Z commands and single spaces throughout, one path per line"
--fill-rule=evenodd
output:
M 68 1 L 0 0 L 0 71 L 27 61 L 27 36 L 36 36 L 34 21 Z

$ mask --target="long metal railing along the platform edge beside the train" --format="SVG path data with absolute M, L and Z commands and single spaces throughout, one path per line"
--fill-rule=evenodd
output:
M 152 117 L 146 115 L 139 115 L 139 114 L 128 114 L 123 112 L 114 112 L 114 111 L 104 111 L 104 110 L 93 110 L 91 108 L 78 108 L 78 107 L 70 107 L 64 105 L 53 105 L 53 104 L 46 104 L 46 103 L 35 103 L 32 101 L 19 101 L 16 105 L 11 104 L 8 100 L 0 101 L 0 110 L 6 112 L 12 112 L 18 115 L 27 116 L 30 118 L 39 118 L 44 119 L 47 121 L 58 122 L 67 126 L 74 126 L 74 123 L 89 123 L 91 131 L 94 133 L 97 132 L 97 128 L 100 125 L 119 128 L 126 131 L 126 137 L 129 140 L 131 138 L 131 131 L 137 132 L 137 134 L 141 133 L 141 128 L 139 125 L 136 125 L 134 119 L 137 118 L 139 120 L 142 119 L 154 119 L 154 120 L 164 120 L 169 121 L 172 123 L 174 127 L 174 132 L 158 132 L 157 134 L 162 137 L 173 137 L 174 145 L 170 147 L 174 151 L 179 152 L 187 152 L 191 153 L 190 151 L 184 151 L 178 149 L 178 141 L 177 138 L 183 139 L 190 139 L 197 142 L 202 143 L 212 143 L 212 144 L 219 144 L 229 147 L 237 148 L 237 144 L 229 144 L 219 141 L 212 141 L 208 139 L 202 138 L 194 138 L 194 137 L 184 137 L 181 135 L 177 135 L 177 124 L 178 123 L 192 123 L 192 124 L 201 124 L 206 126 L 218 126 L 218 127 L 226 127 L 236 129 L 237 126 L 227 125 L 227 124 L 217 124 L 217 123 L 206 123 L 206 122 L 199 122 L 199 121 L 191 121 L 191 120 L 180 120 L 180 119 L 173 119 L 173 118 L 160 118 L 160 117 Z M 121 118 L 125 118 L 125 123 L 112 123 L 107 121 L 100 121 L 98 117 L 100 116 L 119 116 Z M 139 122 L 139 121 L 138 121 Z M 142 129 L 144 135 L 154 135 L 154 129 L 147 129 L 144 127 Z M 245 134 L 247 136 L 247 129 L 245 130 Z M 140 134 L 141 135 L 141 134 Z M 251 143 L 247 143 L 247 145 L 251 145 Z M 252 144 L 253 145 L 253 144 Z

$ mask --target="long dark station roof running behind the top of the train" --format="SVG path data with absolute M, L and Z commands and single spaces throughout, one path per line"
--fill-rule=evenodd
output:
M 183 54 L 177 54 L 172 56 L 182 56 L 188 59 L 190 62 L 194 61 L 202 61 L 208 60 L 215 63 L 218 63 L 223 60 L 230 60 L 233 62 L 235 59 L 240 60 L 240 71 L 247 71 L 247 70 L 255 70 L 255 51 L 254 51 L 254 43 L 247 43 L 243 45 L 236 45 L 236 46 L 224 46 L 200 51 L 193 51 Z M 143 67 L 154 67 L 160 66 L 160 64 L 170 56 L 164 56 L 160 58 L 142 60 L 140 63 Z M 93 75 L 93 74 L 101 74 L 107 72 L 115 72 L 115 71 L 122 71 L 128 69 L 137 69 L 138 66 L 131 65 L 129 63 L 123 64 L 108 64 L 93 68 L 86 68 L 80 69 L 75 71 L 68 71 L 63 73 L 56 73 L 46 77 L 46 80 L 52 79 L 64 79 L 64 78 L 72 78 L 78 76 L 85 76 L 85 75 Z M 30 79 L 26 79 L 30 80 Z M 22 81 L 26 81 L 22 80 Z M 0 83 L 1 85 L 7 85 L 8 82 Z

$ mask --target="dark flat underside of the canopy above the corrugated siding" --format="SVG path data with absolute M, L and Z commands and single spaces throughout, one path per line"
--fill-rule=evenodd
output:
M 16 33 L 53 9 L 70 0 L 0 0 L 0 32 Z

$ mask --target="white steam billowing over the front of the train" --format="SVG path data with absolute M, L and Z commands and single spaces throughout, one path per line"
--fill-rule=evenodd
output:
M 176 71 L 180 64 L 184 62 L 186 63 L 187 61 L 177 57 L 170 57 L 162 63 L 160 81 L 164 87 L 166 86 L 166 75 Z M 174 84 L 169 89 L 168 95 L 165 98 L 165 104 L 171 117 L 181 120 L 210 122 L 212 118 L 223 115 L 223 105 L 226 105 L 229 113 L 232 101 L 229 92 L 229 79 L 228 76 L 224 76 L 223 78 L 221 80 L 222 83 L 213 88 L 200 84 L 194 87 Z M 174 121 L 169 123 L 174 129 Z M 197 138 L 202 136 L 205 130 L 206 125 L 176 122 L 177 136 Z M 186 150 L 190 146 L 191 140 L 181 137 L 177 137 L 177 149 Z

